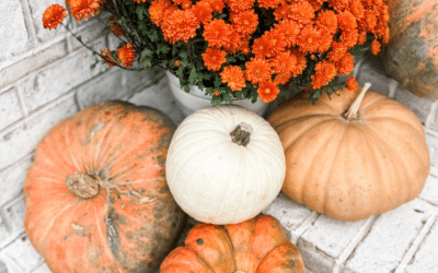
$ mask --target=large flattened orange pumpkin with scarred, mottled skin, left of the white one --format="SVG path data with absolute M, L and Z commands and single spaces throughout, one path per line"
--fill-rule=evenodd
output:
M 151 272 L 186 219 L 165 181 L 175 124 L 123 102 L 91 106 L 41 140 L 25 232 L 51 272 Z

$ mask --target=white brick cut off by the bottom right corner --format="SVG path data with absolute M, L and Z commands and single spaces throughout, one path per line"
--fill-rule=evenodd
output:
M 405 273 L 436 273 L 438 272 L 437 259 L 438 221 L 423 240 L 415 257 L 405 269 Z

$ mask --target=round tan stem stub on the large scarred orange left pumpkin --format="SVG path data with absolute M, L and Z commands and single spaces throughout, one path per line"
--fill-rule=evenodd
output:
M 76 197 L 91 199 L 99 193 L 99 181 L 84 173 L 77 173 L 66 178 L 67 189 Z

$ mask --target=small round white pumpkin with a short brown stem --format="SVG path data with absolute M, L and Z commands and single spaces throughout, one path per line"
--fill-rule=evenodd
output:
M 180 124 L 165 171 L 176 203 L 188 215 L 209 224 L 234 224 L 255 217 L 278 195 L 285 152 L 264 118 L 222 105 L 197 110 Z

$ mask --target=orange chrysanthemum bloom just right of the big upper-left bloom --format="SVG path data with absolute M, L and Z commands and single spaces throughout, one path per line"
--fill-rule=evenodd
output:
M 204 38 L 208 41 L 209 47 L 222 47 L 230 43 L 231 25 L 221 19 L 215 19 L 210 23 L 204 25 Z

